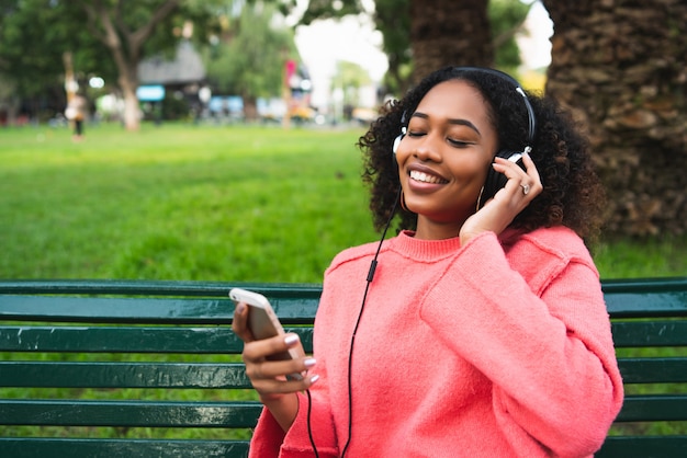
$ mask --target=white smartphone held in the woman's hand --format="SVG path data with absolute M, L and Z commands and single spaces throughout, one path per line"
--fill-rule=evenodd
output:
M 241 288 L 232 288 L 229 297 L 235 302 L 245 302 L 248 306 L 248 329 L 256 340 L 285 335 L 284 329 L 277 318 L 270 301 L 259 293 L 249 291 Z M 303 347 L 289 348 L 288 352 L 275 353 L 268 356 L 269 360 L 288 360 L 304 357 Z M 302 380 L 302 374 L 289 374 L 290 380 Z

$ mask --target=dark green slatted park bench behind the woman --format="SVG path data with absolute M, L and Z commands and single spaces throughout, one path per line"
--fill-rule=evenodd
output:
M 311 351 L 319 285 L 1 280 L 0 457 L 246 456 L 234 286 Z M 687 278 L 604 291 L 628 394 L 597 457 L 687 456 Z

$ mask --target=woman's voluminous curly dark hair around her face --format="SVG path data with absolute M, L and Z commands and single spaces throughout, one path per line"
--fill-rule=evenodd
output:
M 398 230 L 416 228 L 417 215 L 394 205 L 401 184 L 392 146 L 425 94 L 448 80 L 463 80 L 480 91 L 498 133 L 497 151 L 522 151 L 528 146 L 530 118 L 522 96 L 527 95 L 536 119 L 530 157 L 544 188 L 511 227 L 531 231 L 563 225 L 586 241 L 595 240 L 602 222 L 605 193 L 594 170 L 588 141 L 570 113 L 551 98 L 518 93 L 519 85 L 506 73 L 472 67 L 446 67 L 430 73 L 401 101 L 384 105 L 381 116 L 359 138 L 362 179 L 370 186 L 374 227 L 381 230 L 393 217 L 393 210 L 401 218 Z

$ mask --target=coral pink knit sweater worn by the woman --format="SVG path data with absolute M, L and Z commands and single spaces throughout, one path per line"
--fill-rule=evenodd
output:
M 349 438 L 348 363 L 376 243 L 337 255 L 315 320 L 311 428 Z M 589 457 L 622 404 L 598 272 L 563 227 L 385 241 L 352 352 L 347 457 Z M 308 400 L 286 434 L 264 410 L 250 457 L 313 457 Z

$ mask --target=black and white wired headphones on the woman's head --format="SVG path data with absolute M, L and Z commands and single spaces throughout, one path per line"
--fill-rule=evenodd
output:
M 525 90 L 522 90 L 522 88 L 520 87 L 520 83 L 518 83 L 518 81 L 516 81 L 516 79 L 513 78 L 510 75 L 505 73 L 500 70 L 492 69 L 492 68 L 454 67 L 453 71 L 480 71 L 484 73 L 489 73 L 503 80 L 506 80 L 514 85 L 516 93 L 522 98 L 522 102 L 525 103 L 525 107 L 527 110 L 527 116 L 528 116 L 527 146 L 522 149 L 522 151 L 500 150 L 500 151 L 497 151 L 496 154 L 494 156 L 496 158 L 508 159 L 509 161 L 516 162 L 517 164 L 519 164 L 521 168 L 525 169 L 525 165 L 522 165 L 521 158 L 523 153 L 529 153 L 532 150 L 532 144 L 534 141 L 534 133 L 537 129 L 537 121 L 534 118 L 534 111 L 532 110 L 532 105 L 530 104 L 530 101 L 527 99 L 527 94 L 525 93 Z M 394 161 L 395 161 L 396 151 L 398 150 L 398 145 L 401 144 L 401 140 L 403 140 L 403 138 L 406 136 L 407 131 L 408 131 L 407 114 L 406 112 L 403 112 L 403 115 L 401 116 L 401 134 L 394 139 L 394 144 L 392 146 Z M 498 190 L 500 190 L 502 187 L 506 185 L 507 181 L 508 179 L 503 173 L 496 172 L 489 164 L 486 180 L 484 181 L 484 187 L 482 192 L 480 193 L 480 198 L 477 199 L 477 209 L 482 208 L 485 202 L 494 197 L 494 195 L 498 192 Z

